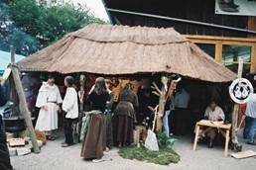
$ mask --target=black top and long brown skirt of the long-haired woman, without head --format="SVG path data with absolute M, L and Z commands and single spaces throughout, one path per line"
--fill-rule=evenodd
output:
M 84 159 L 100 159 L 106 149 L 106 117 L 104 114 L 108 93 L 98 95 L 92 91 L 88 95 L 88 101 L 92 103 L 92 110 L 101 114 L 91 114 L 90 122 L 82 142 L 80 156 Z

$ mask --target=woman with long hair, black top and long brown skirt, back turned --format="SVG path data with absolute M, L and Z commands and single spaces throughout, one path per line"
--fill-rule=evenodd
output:
M 86 114 L 88 121 L 87 131 L 84 134 L 80 156 L 84 159 L 93 159 L 92 162 L 103 161 L 103 151 L 106 149 L 106 117 L 105 107 L 109 98 L 103 77 L 98 77 L 95 85 L 88 94 L 92 111 Z

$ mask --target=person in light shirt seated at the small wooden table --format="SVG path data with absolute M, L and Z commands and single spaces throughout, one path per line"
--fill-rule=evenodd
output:
M 204 113 L 204 119 L 212 122 L 220 122 L 225 120 L 223 110 L 217 106 L 216 101 L 212 100 Z M 207 131 L 206 135 L 209 137 L 209 148 L 213 147 L 213 139 L 216 135 L 216 128 L 211 128 Z

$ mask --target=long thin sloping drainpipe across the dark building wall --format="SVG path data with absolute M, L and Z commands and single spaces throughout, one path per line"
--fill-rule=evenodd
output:
M 108 12 L 117 12 L 117 13 L 131 14 L 131 15 L 137 15 L 137 16 L 143 16 L 143 17 L 151 17 L 151 18 L 170 20 L 170 21 L 176 21 L 176 22 L 182 22 L 182 23 L 190 23 L 190 24 L 194 24 L 194 25 L 207 26 L 207 27 L 213 27 L 213 28 L 219 28 L 219 29 L 226 29 L 226 30 L 243 32 L 243 33 L 249 33 L 249 34 L 256 35 L 255 31 L 239 29 L 239 28 L 234 28 L 234 27 L 215 25 L 215 24 L 197 22 L 197 21 L 192 21 L 192 20 L 178 19 L 178 18 L 173 18 L 173 17 L 164 17 L 164 16 L 159 16 L 159 15 L 153 15 L 153 14 L 146 14 L 146 13 L 138 13 L 138 12 L 132 12 L 132 11 L 117 10 L 117 9 L 112 9 L 112 8 L 105 8 L 105 9 Z

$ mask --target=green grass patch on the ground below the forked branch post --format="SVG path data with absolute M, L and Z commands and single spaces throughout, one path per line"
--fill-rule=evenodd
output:
M 137 159 L 160 165 L 169 165 L 170 163 L 178 163 L 180 161 L 179 154 L 173 149 L 164 146 L 161 146 L 159 151 L 151 151 L 143 146 L 127 146 L 121 147 L 118 153 L 126 159 Z

